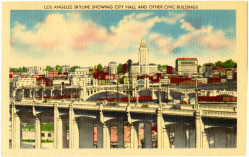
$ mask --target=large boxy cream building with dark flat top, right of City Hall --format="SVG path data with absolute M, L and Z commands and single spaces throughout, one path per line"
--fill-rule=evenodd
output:
M 198 73 L 198 60 L 197 58 L 177 58 L 176 71 L 179 75 L 196 74 Z

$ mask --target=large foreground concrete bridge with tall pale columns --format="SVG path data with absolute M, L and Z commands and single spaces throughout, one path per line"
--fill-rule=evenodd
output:
M 110 148 L 110 128 L 117 127 L 118 148 L 124 148 L 124 126 L 130 128 L 128 148 L 137 149 L 138 127 L 144 125 L 143 148 L 235 148 L 237 103 L 101 103 L 87 101 L 11 101 L 12 149 L 19 149 L 21 123 L 35 125 L 35 148 L 41 148 L 41 123 L 54 124 L 54 148 Z M 69 140 L 67 128 L 69 124 Z

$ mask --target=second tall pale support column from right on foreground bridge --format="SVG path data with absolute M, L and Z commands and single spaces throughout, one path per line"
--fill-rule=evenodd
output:
M 162 109 L 157 109 L 157 148 L 163 148 L 163 115 Z

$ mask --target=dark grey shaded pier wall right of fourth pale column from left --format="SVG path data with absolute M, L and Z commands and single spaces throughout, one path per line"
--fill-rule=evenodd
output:
M 92 118 L 79 118 L 79 147 L 93 148 L 94 146 L 94 120 Z

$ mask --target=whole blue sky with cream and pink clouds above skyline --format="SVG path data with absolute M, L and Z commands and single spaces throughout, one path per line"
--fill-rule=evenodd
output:
M 236 60 L 235 10 L 12 10 L 10 27 L 13 64 L 137 62 L 142 38 L 157 64 Z

